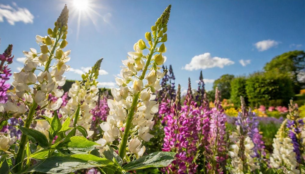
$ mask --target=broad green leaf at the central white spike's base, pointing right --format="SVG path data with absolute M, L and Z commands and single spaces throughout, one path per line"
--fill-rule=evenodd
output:
M 174 160 L 174 152 L 154 152 L 123 166 L 123 170 L 137 170 L 149 167 L 166 167 Z

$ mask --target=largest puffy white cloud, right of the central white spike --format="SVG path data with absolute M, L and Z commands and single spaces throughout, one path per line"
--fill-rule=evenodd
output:
M 204 53 L 201 55 L 196 55 L 192 58 L 189 64 L 186 64 L 185 67 L 182 69 L 186 69 L 188 71 L 197 70 L 197 69 L 207 69 L 213 67 L 223 68 L 224 66 L 234 64 L 228 58 L 221 58 L 221 57 L 211 57 L 210 53 Z

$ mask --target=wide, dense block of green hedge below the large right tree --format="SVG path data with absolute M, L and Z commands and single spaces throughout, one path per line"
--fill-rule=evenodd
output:
M 246 93 L 251 106 L 270 106 L 270 101 L 288 102 L 293 96 L 292 82 L 288 76 L 268 76 L 254 73 L 246 80 Z M 282 103 L 285 105 L 287 103 Z

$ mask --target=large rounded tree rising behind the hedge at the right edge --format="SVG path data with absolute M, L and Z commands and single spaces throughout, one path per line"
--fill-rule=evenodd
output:
M 293 82 L 293 91 L 298 94 L 305 86 L 305 52 L 296 50 L 278 55 L 266 63 L 264 70 L 269 76 L 289 76 Z

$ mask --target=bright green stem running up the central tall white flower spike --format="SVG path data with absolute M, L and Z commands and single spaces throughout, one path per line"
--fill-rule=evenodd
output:
M 154 45 L 153 45 L 152 49 L 150 50 L 149 56 L 147 58 L 145 67 L 143 69 L 143 72 L 142 72 L 141 76 L 139 77 L 140 80 L 143 80 L 144 77 L 145 77 L 146 71 L 147 71 L 148 66 L 150 64 L 150 61 L 152 59 L 153 51 L 155 50 L 156 45 L 158 44 L 158 41 L 159 41 L 159 38 L 156 37 Z M 131 108 L 130 108 L 130 111 L 129 111 L 128 115 L 127 115 L 127 120 L 126 120 L 125 129 L 124 129 L 124 134 L 123 134 L 122 141 L 121 141 L 120 148 L 119 148 L 119 156 L 122 159 L 124 159 L 124 157 L 125 157 L 126 144 L 127 144 L 127 140 L 128 140 L 128 137 L 129 137 L 129 132 L 130 132 L 130 128 L 131 128 L 131 122 L 132 122 L 133 116 L 135 114 L 135 109 L 136 109 L 136 106 L 138 105 L 138 98 L 139 98 L 139 93 L 138 94 L 134 94 L 134 99 L 132 100 Z

